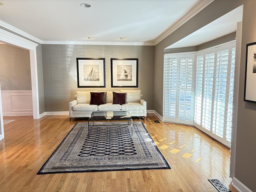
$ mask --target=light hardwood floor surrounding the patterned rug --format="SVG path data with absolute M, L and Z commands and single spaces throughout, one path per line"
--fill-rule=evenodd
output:
M 64 116 L 6 116 L 0 141 L 0 192 L 217 192 L 208 179 L 217 178 L 237 192 L 229 178 L 229 149 L 194 127 L 143 121 L 168 161 L 170 170 L 134 170 L 36 175 L 76 122 Z M 160 121 L 160 120 L 159 120 Z

